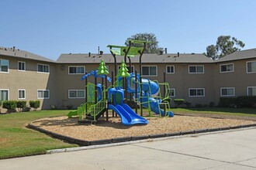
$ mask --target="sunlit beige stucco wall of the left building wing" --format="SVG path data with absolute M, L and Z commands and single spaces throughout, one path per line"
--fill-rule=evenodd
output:
M 50 105 L 55 104 L 57 100 L 54 81 L 55 64 L 6 56 L 0 56 L 0 59 L 9 59 L 9 73 L 0 73 L 0 89 L 9 89 L 9 100 L 18 100 L 18 89 L 24 89 L 26 99 L 20 100 L 26 100 L 29 105 L 29 100 L 39 100 L 37 90 L 50 90 L 50 99 L 40 99 L 39 109 L 50 109 Z M 18 61 L 26 62 L 26 71 L 18 70 Z M 50 73 L 37 73 L 37 63 L 49 65 Z

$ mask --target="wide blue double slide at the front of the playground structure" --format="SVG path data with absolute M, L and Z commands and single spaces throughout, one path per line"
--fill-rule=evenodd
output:
M 133 124 L 148 124 L 147 119 L 137 115 L 127 104 L 109 104 L 109 109 L 114 110 L 121 117 L 124 125 L 130 126 Z

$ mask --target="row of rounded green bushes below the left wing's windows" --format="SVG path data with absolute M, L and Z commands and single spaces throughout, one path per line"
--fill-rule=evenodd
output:
M 26 107 L 26 101 L 5 100 L 2 102 L 2 107 L 7 109 L 8 112 L 14 112 L 16 111 L 16 108 L 18 108 L 20 112 Z M 40 100 L 30 100 L 29 107 L 32 107 L 34 110 L 36 110 L 38 107 L 40 107 Z

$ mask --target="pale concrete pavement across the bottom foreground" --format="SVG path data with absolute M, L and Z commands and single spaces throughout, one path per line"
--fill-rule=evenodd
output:
M 12 158 L 0 169 L 256 169 L 256 128 Z

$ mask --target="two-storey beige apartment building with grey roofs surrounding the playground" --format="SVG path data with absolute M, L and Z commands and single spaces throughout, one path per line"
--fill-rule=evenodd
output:
M 101 59 L 109 73 L 115 70 L 111 54 L 69 53 L 54 61 L 0 47 L 0 100 L 40 100 L 42 109 L 50 109 L 50 105 L 76 107 L 85 102 L 85 81 L 81 81 L 81 76 L 97 70 Z M 131 70 L 139 73 L 139 57 L 130 59 Z M 116 60 L 119 65 L 123 56 L 116 56 Z M 163 82 L 164 72 L 171 97 L 192 104 L 217 105 L 220 97 L 256 95 L 256 49 L 239 51 L 216 61 L 195 53 L 144 54 L 141 73 L 144 78 Z M 88 77 L 88 81 L 93 83 L 94 77 Z

